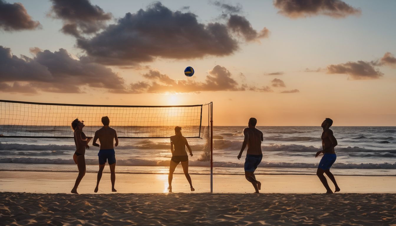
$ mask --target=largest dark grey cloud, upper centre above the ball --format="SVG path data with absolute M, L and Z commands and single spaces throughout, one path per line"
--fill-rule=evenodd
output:
M 258 33 L 257 36 L 260 36 Z M 77 46 L 95 62 L 134 65 L 156 57 L 194 59 L 225 56 L 238 49 L 227 25 L 198 23 L 194 13 L 171 11 L 156 2 L 110 25 L 90 39 L 78 38 Z

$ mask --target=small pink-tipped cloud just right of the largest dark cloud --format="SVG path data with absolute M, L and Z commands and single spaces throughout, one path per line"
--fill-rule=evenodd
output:
M 263 28 L 263 30 L 257 32 L 257 30 L 251 27 L 251 24 L 246 17 L 240 15 L 230 15 L 227 26 L 232 32 L 243 36 L 247 42 L 258 40 L 260 38 L 267 38 L 269 35 L 269 30 L 267 28 Z

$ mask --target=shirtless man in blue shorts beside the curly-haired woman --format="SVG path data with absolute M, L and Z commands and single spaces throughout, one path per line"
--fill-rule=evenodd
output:
M 109 117 L 102 117 L 103 127 L 95 132 L 95 137 L 93 137 L 93 146 L 100 147 L 99 156 L 99 171 L 97 177 L 96 188 L 94 192 L 98 192 L 99 181 L 102 178 L 103 169 L 105 169 L 106 161 L 109 160 L 110 166 L 110 179 L 111 179 L 111 191 L 116 192 L 114 188 L 114 183 L 116 182 L 116 154 L 114 152 L 114 139 L 116 140 L 115 146 L 118 146 L 117 132 L 109 127 L 110 120 Z M 96 143 L 99 138 L 100 146 Z

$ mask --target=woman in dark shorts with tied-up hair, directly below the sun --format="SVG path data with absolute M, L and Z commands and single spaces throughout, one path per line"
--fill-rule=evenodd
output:
M 190 145 L 188 145 L 187 139 L 181 135 L 181 127 L 175 127 L 175 136 L 171 136 L 171 152 L 172 152 L 172 159 L 170 161 L 169 166 L 169 176 L 168 176 L 168 183 L 169 183 L 169 192 L 172 192 L 172 179 L 173 179 L 173 172 L 176 169 L 176 166 L 179 165 L 181 162 L 181 166 L 183 167 L 184 175 L 186 176 L 188 183 L 190 183 L 191 191 L 194 192 L 195 189 L 192 187 L 191 177 L 188 174 L 188 155 L 186 152 L 186 146 L 188 151 L 190 152 L 190 156 L 192 156 L 192 150 Z

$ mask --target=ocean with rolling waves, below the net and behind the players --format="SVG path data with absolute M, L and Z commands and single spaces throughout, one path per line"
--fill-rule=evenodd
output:
M 244 151 L 238 155 L 244 126 L 213 127 L 213 173 L 244 175 Z M 315 175 L 322 155 L 320 126 L 259 126 L 264 134 L 263 161 L 256 174 Z M 338 141 L 334 175 L 396 176 L 396 127 L 331 127 Z M 183 132 L 183 131 L 182 131 Z M 188 139 L 194 156 L 190 174 L 210 174 L 208 127 L 204 139 Z M 73 139 L 0 138 L 0 171 L 77 172 Z M 86 150 L 87 172 L 97 172 L 99 148 Z M 167 174 L 169 139 L 119 139 L 117 173 Z M 108 170 L 109 167 L 106 167 Z M 106 171 L 105 170 L 105 171 Z M 181 166 L 175 173 L 183 173 Z

